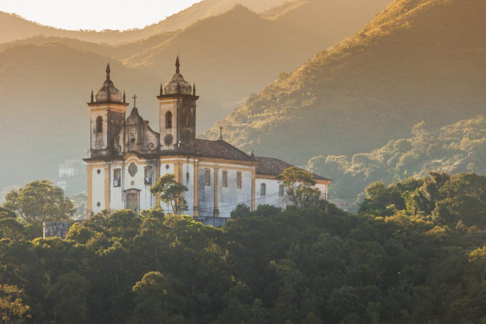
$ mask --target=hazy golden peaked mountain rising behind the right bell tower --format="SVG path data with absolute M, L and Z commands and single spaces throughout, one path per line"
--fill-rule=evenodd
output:
M 296 12 L 290 10 L 275 19 L 261 18 L 237 5 L 224 14 L 192 24 L 125 63 L 166 74 L 173 70 L 174 53 L 180 50 L 182 73 L 197 84 L 202 94 L 199 107 L 204 111 L 198 126 L 204 131 L 231 111 L 231 106 L 223 107 L 226 102 L 260 90 L 279 72 L 294 70 L 317 51 L 353 34 L 364 25 L 357 25 L 356 20 L 371 20 L 387 1 L 374 0 L 363 6 L 354 5 L 355 0 L 306 0 L 294 8 Z M 334 8 L 332 13 L 330 7 Z M 334 15 L 340 19 L 333 19 L 335 24 L 327 23 Z

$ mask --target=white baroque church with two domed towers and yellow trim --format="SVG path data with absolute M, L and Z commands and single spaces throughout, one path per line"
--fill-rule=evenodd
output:
M 239 203 L 252 210 L 260 204 L 285 207 L 289 201 L 276 177 L 292 165 L 275 158 L 247 154 L 223 140 L 196 139 L 195 85 L 179 72 L 156 96 L 159 132 L 136 107 L 126 117 L 125 92 L 118 90 L 106 67 L 106 80 L 87 103 L 91 147 L 87 162 L 87 217 L 104 209 L 136 212 L 156 206 L 150 187 L 172 173 L 189 191 L 184 193 L 191 216 L 229 217 Z M 321 197 L 327 198 L 331 180 L 314 175 Z M 162 206 L 169 211 L 168 206 Z

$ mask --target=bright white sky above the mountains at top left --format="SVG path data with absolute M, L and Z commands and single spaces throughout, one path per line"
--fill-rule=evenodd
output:
M 201 0 L 0 0 L 0 11 L 63 29 L 142 28 Z

